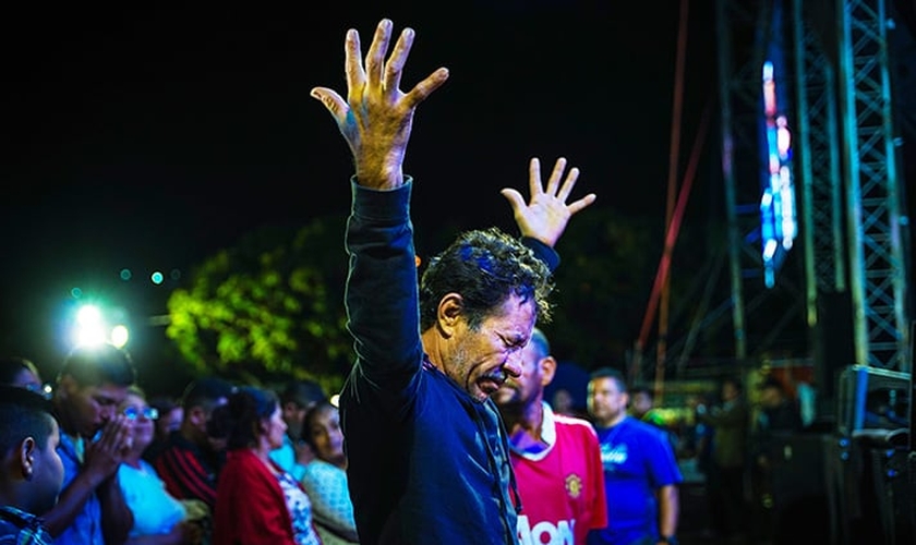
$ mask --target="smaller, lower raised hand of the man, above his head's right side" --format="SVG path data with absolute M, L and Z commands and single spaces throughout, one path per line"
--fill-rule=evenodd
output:
M 547 186 L 544 187 L 541 181 L 541 161 L 533 157 L 528 168 L 531 201 L 526 203 L 521 193 L 511 187 L 505 187 L 499 192 L 509 201 L 513 217 L 521 234 L 538 239 L 551 247 L 566 230 L 569 218 L 594 203 L 596 198 L 594 193 L 589 193 L 582 198 L 566 204 L 566 199 L 569 198 L 579 179 L 579 169 L 571 168 L 566 179 L 563 178 L 565 171 L 566 159 L 561 157 L 554 165 Z M 562 184 L 561 181 L 563 181 Z

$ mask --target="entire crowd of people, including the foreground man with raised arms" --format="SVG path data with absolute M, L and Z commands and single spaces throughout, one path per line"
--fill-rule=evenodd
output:
M 591 375 L 588 415 L 544 398 L 555 246 L 595 199 L 570 198 L 579 170 L 561 158 L 544 182 L 532 159 L 528 201 L 502 190 L 519 233 L 463 232 L 419 274 L 402 162 L 417 108 L 448 71 L 401 90 L 412 43 L 383 20 L 363 56 L 349 31 L 347 92 L 312 90 L 355 170 L 343 303 L 357 358 L 339 401 L 308 380 L 212 376 L 147 398 L 111 344 L 74 349 L 48 390 L 11 358 L 0 544 L 677 543 L 675 447 L 631 414 L 624 375 Z M 728 426 L 748 419 L 723 392 L 697 414 L 735 500 L 725 446 L 740 448 L 745 431 Z

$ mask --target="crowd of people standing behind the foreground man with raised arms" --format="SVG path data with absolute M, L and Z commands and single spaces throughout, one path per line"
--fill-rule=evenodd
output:
M 584 417 L 559 412 L 544 400 L 556 364 L 534 327 L 518 352 L 518 372 L 491 395 L 511 465 L 504 492 L 517 513 L 513 535 L 502 538 L 677 543 L 683 476 L 671 429 L 644 420 L 624 374 L 612 367 L 591 373 Z M 0 360 L 0 383 L 8 469 L 0 477 L 0 535 L 17 543 L 388 543 L 361 538 L 340 409 L 315 382 L 263 388 L 203 377 L 178 399 L 156 398 L 155 407 L 129 354 L 105 344 L 74 350 L 50 388 L 22 358 Z M 723 380 L 722 396 L 721 403 L 696 407 L 696 424 L 715 432 L 703 437 L 726 445 L 700 448 L 710 450 L 703 471 L 712 528 L 731 537 L 747 529 L 749 511 L 743 477 L 733 475 L 740 471 L 730 470 L 747 468 L 744 460 L 751 474 L 766 474 L 778 456 L 773 435 L 800 429 L 801 420 L 774 379 L 761 385 L 758 422 L 749 428 L 740 385 Z M 167 410 L 181 416 L 162 435 Z

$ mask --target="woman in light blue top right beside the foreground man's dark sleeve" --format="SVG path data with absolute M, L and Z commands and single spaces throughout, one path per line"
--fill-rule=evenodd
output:
M 315 526 L 322 541 L 325 545 L 359 543 L 337 407 L 329 401 L 313 407 L 302 423 L 302 438 L 316 456 L 305 465 L 302 486 L 312 499 Z

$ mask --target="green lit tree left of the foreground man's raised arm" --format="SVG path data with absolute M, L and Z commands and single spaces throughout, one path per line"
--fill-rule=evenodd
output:
M 342 232 L 342 217 L 268 227 L 210 256 L 169 298 L 166 336 L 195 373 L 336 390 L 352 363 Z

